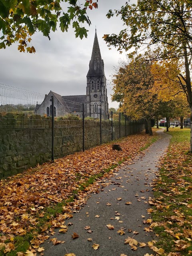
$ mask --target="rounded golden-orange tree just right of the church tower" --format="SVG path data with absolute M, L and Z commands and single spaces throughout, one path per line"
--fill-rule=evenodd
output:
M 157 94 L 152 93 L 154 77 L 151 63 L 138 55 L 128 63 L 122 64 L 113 76 L 114 94 L 112 100 L 121 99 L 121 110 L 135 119 L 145 118 L 148 132 L 152 135 L 151 118 L 160 114 L 164 108 Z M 119 97 L 120 96 L 120 97 Z

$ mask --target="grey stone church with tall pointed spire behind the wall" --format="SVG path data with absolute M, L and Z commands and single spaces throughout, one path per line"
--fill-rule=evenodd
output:
M 62 117 L 69 114 L 82 117 L 84 104 L 85 117 L 100 118 L 101 112 L 102 119 L 109 118 L 104 62 L 101 58 L 96 30 L 87 73 L 86 95 L 61 96 L 50 91 L 49 94 L 45 95 L 41 104 L 36 104 L 35 114 L 51 116 L 51 96 L 54 97 L 55 117 Z

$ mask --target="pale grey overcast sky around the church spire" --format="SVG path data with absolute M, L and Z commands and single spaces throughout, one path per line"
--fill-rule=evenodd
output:
M 92 54 L 95 26 L 100 45 L 107 79 L 109 107 L 118 107 L 111 102 L 112 85 L 110 76 L 119 59 L 126 54 L 119 54 L 116 48 L 109 50 L 102 36 L 118 33 L 122 30 L 120 18 L 106 18 L 109 9 L 119 9 L 125 0 L 99 0 L 98 9 L 89 10 L 92 22 L 87 29 L 88 37 L 75 38 L 72 28 L 62 33 L 59 29 L 50 34 L 51 40 L 40 32 L 32 36 L 35 54 L 19 52 L 17 44 L 0 50 L 0 83 L 48 94 L 50 90 L 62 96 L 86 94 L 86 75 Z M 84 26 L 84 24 L 82 24 Z

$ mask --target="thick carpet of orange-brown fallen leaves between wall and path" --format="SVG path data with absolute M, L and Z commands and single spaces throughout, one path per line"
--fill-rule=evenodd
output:
M 150 140 L 145 134 L 132 135 L 118 142 L 122 151 L 112 150 L 111 144 L 104 144 L 1 180 L 0 233 L 3 235 L 0 236 L 0 250 L 8 255 L 10 251 L 16 250 L 15 236 L 30 233 L 33 234 L 31 246 L 26 252 L 18 252 L 17 255 L 34 256 L 36 252 L 42 253 L 40 244 L 49 238 L 48 232 L 52 234 L 55 227 L 60 228 L 60 232 L 67 232 L 65 220 L 72 218 L 72 213 L 85 204 L 88 193 L 99 188 L 96 182 L 81 191 L 80 185 L 90 176 L 118 164 L 120 160 L 131 161 Z M 46 209 L 66 202 L 74 195 L 74 191 L 78 191 L 78 199 L 63 206 L 63 213 L 56 214 L 56 218 L 49 215 L 48 222 L 40 226 L 41 218 L 46 216 Z

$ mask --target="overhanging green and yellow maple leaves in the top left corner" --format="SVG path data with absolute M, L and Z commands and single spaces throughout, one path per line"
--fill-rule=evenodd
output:
M 62 2 L 68 4 L 67 11 L 62 8 Z M 18 50 L 35 52 L 30 46 L 31 36 L 40 31 L 50 40 L 50 30 L 55 31 L 59 24 L 62 32 L 67 31 L 70 24 L 76 37 L 87 37 L 82 23 L 90 25 L 86 14 L 87 8 L 97 8 L 97 0 L 84 0 L 79 4 L 77 0 L 0 0 L 0 49 L 19 42 Z

